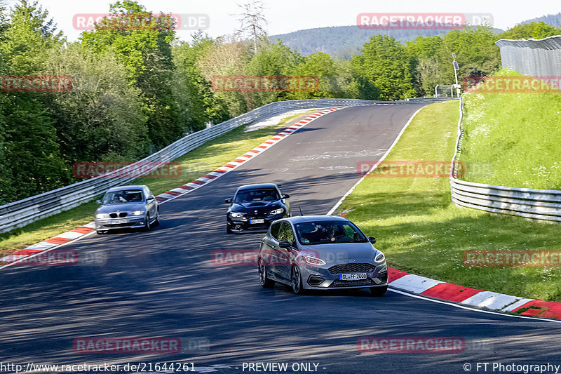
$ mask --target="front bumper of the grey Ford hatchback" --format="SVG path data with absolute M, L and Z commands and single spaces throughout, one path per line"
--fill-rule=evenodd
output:
M 316 267 L 313 265 L 300 265 L 299 270 L 302 274 L 302 286 L 307 290 L 332 290 L 343 288 L 365 288 L 365 287 L 383 287 L 388 285 L 388 266 L 374 265 L 369 262 L 362 262 L 356 265 L 367 264 L 372 267 L 365 270 L 349 271 L 349 272 L 330 272 L 330 268 L 334 265 L 323 265 Z M 371 271 L 369 271 L 371 270 Z M 357 281 L 343 281 L 341 274 L 348 273 L 366 273 L 366 279 Z

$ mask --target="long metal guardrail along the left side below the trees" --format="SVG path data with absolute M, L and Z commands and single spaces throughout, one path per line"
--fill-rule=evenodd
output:
M 253 123 L 255 121 L 264 120 L 290 112 L 296 109 L 312 109 L 334 106 L 354 106 L 354 105 L 372 105 L 380 103 L 380 101 L 371 100 L 355 100 L 355 99 L 314 99 L 314 100 L 292 100 L 272 102 L 271 104 L 264 105 L 251 112 L 242 114 L 228 121 L 224 121 L 210 128 L 191 133 L 180 140 L 173 142 L 161 149 L 160 151 L 151 154 L 150 156 L 137 161 L 137 163 L 125 166 L 119 171 L 112 171 L 101 175 L 96 178 L 76 182 L 73 185 L 53 189 L 52 191 L 45 192 L 36 196 L 28 197 L 20 201 L 8 203 L 0 206 L 0 233 L 8 232 L 17 227 L 23 227 L 31 222 L 46 218 L 50 215 L 67 211 L 70 208 L 79 206 L 95 198 L 106 189 L 118 185 L 126 185 L 127 182 L 134 178 L 110 178 L 112 173 L 120 173 L 121 171 L 133 170 L 135 166 L 142 163 L 146 166 L 151 164 L 151 168 L 147 168 L 146 173 L 158 168 L 166 162 L 177 159 L 177 157 L 195 149 L 204 142 L 227 133 L 228 131 L 241 126 L 245 123 Z

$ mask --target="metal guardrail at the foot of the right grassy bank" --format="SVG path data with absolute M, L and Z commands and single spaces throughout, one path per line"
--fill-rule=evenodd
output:
M 485 185 L 457 179 L 456 166 L 461 153 L 463 99 L 460 99 L 459 108 L 458 138 L 450 175 L 452 201 L 459 206 L 480 209 L 481 211 L 561 222 L 560 190 Z

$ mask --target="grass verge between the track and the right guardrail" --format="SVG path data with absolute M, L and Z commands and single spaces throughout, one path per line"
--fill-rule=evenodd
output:
M 458 102 L 428 105 L 386 161 L 450 160 Z M 466 267 L 464 251 L 560 249 L 559 225 L 455 206 L 448 178 L 365 178 L 339 207 L 377 238 L 388 265 L 440 281 L 561 301 L 559 267 Z

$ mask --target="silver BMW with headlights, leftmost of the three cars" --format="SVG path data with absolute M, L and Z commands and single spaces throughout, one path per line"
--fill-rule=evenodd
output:
M 95 231 L 104 234 L 109 229 L 142 228 L 150 231 L 160 224 L 158 201 L 145 185 L 113 187 L 97 200 Z

